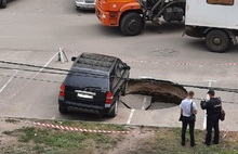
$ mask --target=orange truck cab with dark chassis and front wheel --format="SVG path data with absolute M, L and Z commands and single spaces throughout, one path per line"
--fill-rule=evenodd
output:
M 183 21 L 185 0 L 96 0 L 95 12 L 104 26 L 116 26 L 123 35 L 135 36 L 147 21 Z

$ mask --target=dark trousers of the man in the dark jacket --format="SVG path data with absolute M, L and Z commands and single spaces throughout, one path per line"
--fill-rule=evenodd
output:
M 207 136 L 206 136 L 206 142 L 204 142 L 207 145 L 211 144 L 212 128 L 214 128 L 213 142 L 215 144 L 219 144 L 220 131 L 219 131 L 219 116 L 217 115 L 207 117 Z

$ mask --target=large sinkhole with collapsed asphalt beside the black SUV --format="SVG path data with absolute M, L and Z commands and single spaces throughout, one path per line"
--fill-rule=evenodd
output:
M 128 108 L 162 110 L 178 105 L 186 95 L 187 91 L 181 85 L 142 78 L 128 81 L 127 94 L 120 101 Z

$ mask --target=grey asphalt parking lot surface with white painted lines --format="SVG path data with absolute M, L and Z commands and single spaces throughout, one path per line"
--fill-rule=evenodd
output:
M 72 0 L 14 0 L 6 9 L 0 10 L 0 15 L 1 61 L 68 69 L 71 62 L 62 64 L 57 61 L 57 51 L 62 47 L 68 59 L 82 52 L 118 56 L 131 66 L 132 78 L 238 89 L 238 46 L 226 53 L 209 52 L 203 40 L 182 37 L 183 23 L 164 23 L 160 27 L 148 23 L 142 35 L 123 37 L 117 28 L 102 26 L 93 12 L 77 11 Z M 0 66 L 9 67 L 6 64 Z M 129 104 L 137 103 L 136 110 L 120 104 L 119 114 L 113 119 L 79 113 L 62 116 L 57 111 L 57 95 L 64 75 L 44 74 L 43 68 L 29 73 L 17 69 L 18 66 L 12 67 L 0 72 L 2 117 L 162 127 L 181 125 L 177 105 L 161 103 L 156 110 L 145 111 L 143 103 L 146 104 L 145 100 L 148 101 L 149 97 L 144 95 L 122 98 Z M 206 98 L 207 89 L 186 89 L 194 90 L 196 99 Z M 217 95 L 224 100 L 226 111 L 222 129 L 238 130 L 238 94 L 217 91 Z M 199 107 L 199 100 L 195 102 Z M 196 127 L 201 129 L 204 113 L 200 107 L 198 112 Z

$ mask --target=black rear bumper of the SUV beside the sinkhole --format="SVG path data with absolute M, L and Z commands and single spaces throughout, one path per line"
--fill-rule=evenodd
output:
M 64 106 L 64 107 L 72 107 L 77 108 L 77 111 L 82 112 L 82 113 L 92 113 L 92 114 L 109 114 L 111 111 L 110 107 L 105 107 L 105 106 L 98 106 L 98 105 L 89 105 L 89 104 L 83 104 L 83 103 L 76 103 L 76 102 L 70 102 L 70 101 L 62 101 L 58 100 L 58 105 Z

